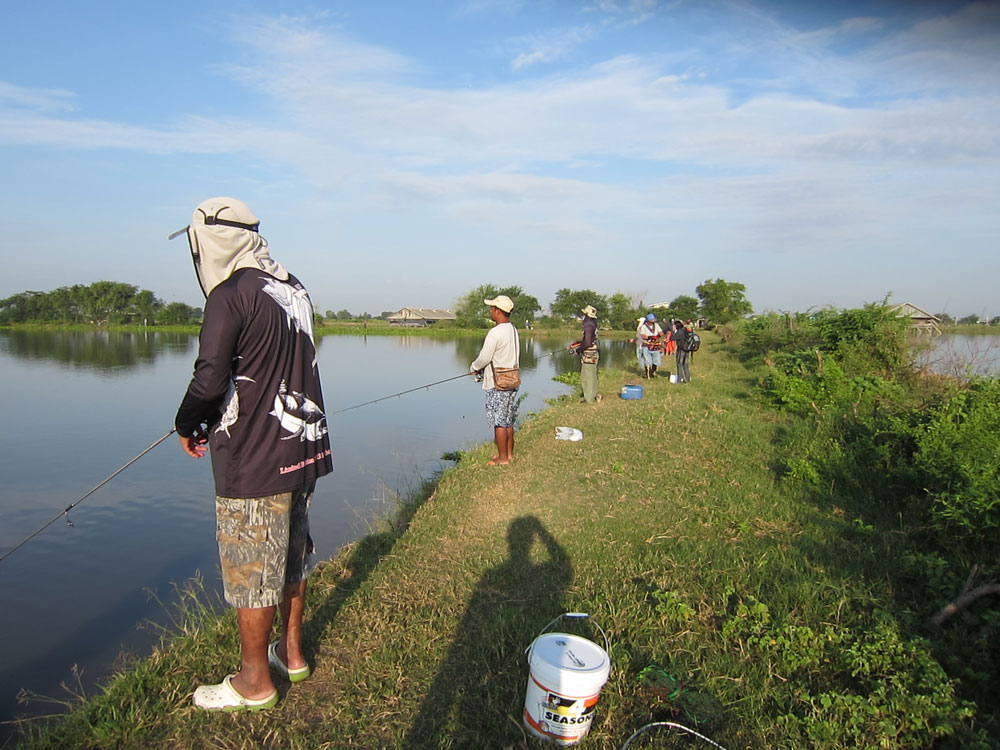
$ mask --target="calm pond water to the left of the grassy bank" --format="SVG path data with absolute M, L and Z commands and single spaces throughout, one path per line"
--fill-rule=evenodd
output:
M 522 417 L 571 389 L 568 341 L 522 338 Z M 336 469 L 317 484 L 310 520 L 321 558 L 444 465 L 441 454 L 492 439 L 478 383 L 460 375 L 479 338 L 327 336 L 318 342 Z M 634 347 L 602 342 L 601 365 L 634 366 Z M 557 351 L 553 356 L 548 353 Z M 0 554 L 57 516 L 173 425 L 197 338 L 180 334 L 0 331 Z M 0 721 L 25 709 L 18 691 L 66 697 L 72 667 L 91 686 L 117 655 L 148 653 L 139 623 L 166 622 L 172 583 L 198 571 L 218 591 L 214 491 L 208 460 L 171 436 L 0 563 Z M 33 703 L 29 713 L 50 707 Z M 0 725 L 0 742 L 5 734 Z

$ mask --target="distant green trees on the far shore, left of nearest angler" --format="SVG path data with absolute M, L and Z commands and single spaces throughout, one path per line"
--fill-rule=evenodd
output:
M 164 303 L 148 289 L 117 281 L 62 286 L 51 292 L 20 292 L 0 300 L 0 325 L 85 323 L 89 325 L 187 325 L 201 308 Z

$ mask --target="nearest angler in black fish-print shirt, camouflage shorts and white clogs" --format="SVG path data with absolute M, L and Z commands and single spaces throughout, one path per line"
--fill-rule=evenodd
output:
M 274 706 L 269 666 L 290 682 L 309 676 L 301 646 L 309 501 L 316 479 L 333 470 L 312 302 L 271 259 L 259 225 L 242 201 L 211 198 L 186 230 L 206 301 L 174 424 L 192 458 L 211 448 L 223 590 L 240 632 L 240 671 L 194 691 L 194 704 L 209 710 Z M 276 609 L 284 627 L 269 645 Z

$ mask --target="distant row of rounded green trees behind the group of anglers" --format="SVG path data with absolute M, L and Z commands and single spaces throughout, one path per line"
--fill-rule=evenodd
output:
M 697 297 L 679 295 L 666 308 L 652 308 L 643 300 L 624 292 L 610 296 L 593 289 L 560 289 L 549 305 L 547 315 L 539 316 L 542 306 L 538 299 L 524 292 L 519 286 L 500 288 L 494 284 L 483 284 L 458 299 L 455 306 L 455 325 L 462 328 L 487 328 L 491 325 L 489 310 L 483 300 L 505 294 L 514 302 L 511 320 L 517 326 L 526 324 L 542 328 L 565 325 L 582 317 L 581 310 L 591 305 L 597 310 L 601 325 L 622 330 L 633 330 L 640 317 L 650 312 L 661 320 L 677 318 L 694 320 L 704 317 L 713 323 L 728 323 L 753 312 L 746 298 L 743 284 L 716 279 L 706 280 L 695 288 Z

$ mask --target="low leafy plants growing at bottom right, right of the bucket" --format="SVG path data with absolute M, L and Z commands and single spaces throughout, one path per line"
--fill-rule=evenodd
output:
M 929 644 L 903 637 L 888 617 L 876 614 L 873 627 L 817 629 L 775 617 L 752 595 L 729 609 L 723 638 L 776 677 L 783 746 L 930 748 L 973 715 Z

